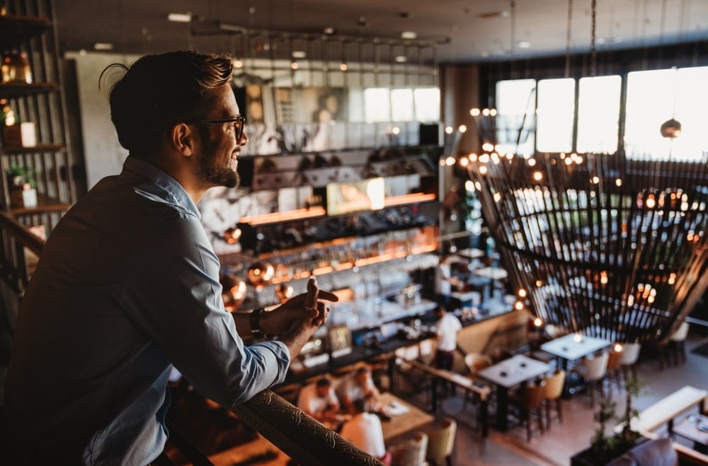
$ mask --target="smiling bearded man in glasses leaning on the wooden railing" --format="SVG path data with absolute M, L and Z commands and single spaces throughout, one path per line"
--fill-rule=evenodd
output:
M 311 280 L 272 312 L 224 310 L 196 204 L 239 182 L 231 60 L 169 52 L 107 70 L 122 74 L 110 111 L 130 156 L 59 222 L 23 298 L 5 391 L 18 462 L 152 462 L 172 364 L 232 407 L 285 378 L 326 320 L 319 298 L 336 301 Z M 239 337 L 261 332 L 280 339 Z

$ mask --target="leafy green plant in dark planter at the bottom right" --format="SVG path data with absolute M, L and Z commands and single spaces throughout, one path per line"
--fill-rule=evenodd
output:
M 595 429 L 595 433 L 590 440 L 590 448 L 573 455 L 571 466 L 605 465 L 613 458 L 624 455 L 624 453 L 644 439 L 639 432 L 632 430 L 631 422 L 632 419 L 639 416 L 639 412 L 632 405 L 632 400 L 634 397 L 639 396 L 643 386 L 638 378 L 629 378 L 624 383 L 627 397 L 622 416 L 615 414 L 617 402 L 611 398 L 600 400 L 600 408 L 593 416 L 599 426 L 598 429 Z M 622 431 L 607 435 L 607 424 L 613 420 L 617 420 L 622 424 Z

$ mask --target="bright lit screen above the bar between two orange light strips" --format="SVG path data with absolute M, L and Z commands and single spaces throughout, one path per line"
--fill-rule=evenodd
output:
M 384 178 L 328 183 L 326 194 L 327 215 L 383 209 Z

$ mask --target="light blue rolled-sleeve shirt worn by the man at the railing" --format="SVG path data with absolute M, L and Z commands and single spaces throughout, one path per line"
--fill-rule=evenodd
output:
M 21 445 L 52 464 L 147 464 L 171 364 L 226 407 L 282 382 L 287 347 L 245 347 L 221 289 L 192 199 L 128 157 L 59 222 L 23 298 L 6 379 Z

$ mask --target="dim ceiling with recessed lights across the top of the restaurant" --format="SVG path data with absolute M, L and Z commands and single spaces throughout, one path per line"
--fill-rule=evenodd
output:
M 401 32 L 412 31 L 420 42 L 409 43 L 437 44 L 436 61 L 465 63 L 564 55 L 568 47 L 573 53 L 588 52 L 591 1 L 55 0 L 55 17 L 62 51 L 89 51 L 104 42 L 113 52 L 126 54 L 187 47 L 200 52 L 233 49 L 238 54 L 239 47 L 259 47 L 250 41 L 241 45 L 241 35 L 234 31 L 242 28 L 290 32 L 319 41 L 324 28 L 333 28 L 327 40 L 363 37 L 356 41 L 360 44 L 373 44 L 375 38 L 398 44 Z M 173 23 L 167 21 L 168 13 L 190 13 L 193 21 Z M 597 0 L 598 52 L 695 40 L 708 40 L 707 0 Z M 294 39 L 280 52 L 307 49 L 302 44 Z

